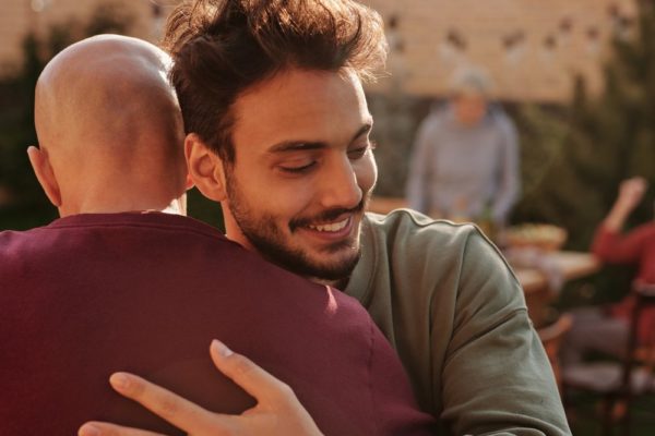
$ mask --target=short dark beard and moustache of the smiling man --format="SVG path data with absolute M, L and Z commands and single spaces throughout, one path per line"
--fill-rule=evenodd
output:
M 332 264 L 320 264 L 306 254 L 299 247 L 287 245 L 285 233 L 275 225 L 275 217 L 271 214 L 264 214 L 261 218 L 253 217 L 252 208 L 249 207 L 239 193 L 238 184 L 231 171 L 226 171 L 227 198 L 231 215 L 239 226 L 239 229 L 258 253 L 269 262 L 299 276 L 315 278 L 325 281 L 344 281 L 350 276 L 360 257 L 359 238 L 348 241 L 340 241 L 324 247 L 326 255 L 350 249 L 352 256 L 343 258 L 341 262 Z M 337 218 L 338 216 L 350 213 L 358 214 L 364 210 L 366 205 L 366 195 L 360 204 L 353 209 L 330 209 L 312 218 L 300 218 L 289 222 L 289 231 L 293 232 L 299 227 L 307 226 L 310 222 L 325 222 Z

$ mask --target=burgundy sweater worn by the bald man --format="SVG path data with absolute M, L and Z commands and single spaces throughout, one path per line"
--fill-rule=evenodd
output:
M 114 392 L 130 371 L 201 405 L 254 404 L 209 356 L 226 342 L 291 386 L 327 435 L 429 434 L 366 311 L 191 218 L 78 215 L 0 233 L 0 434 L 88 420 L 181 434 Z

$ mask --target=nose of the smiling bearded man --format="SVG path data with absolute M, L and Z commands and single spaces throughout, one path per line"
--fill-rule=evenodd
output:
M 321 205 L 324 208 L 352 209 L 362 197 L 357 174 L 347 157 L 334 159 L 321 178 Z

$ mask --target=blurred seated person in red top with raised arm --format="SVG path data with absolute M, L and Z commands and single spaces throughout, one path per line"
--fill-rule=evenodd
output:
M 642 201 L 646 187 L 645 179 L 640 177 L 621 183 L 614 206 L 596 230 L 592 252 L 608 264 L 633 264 L 638 267 L 635 281 L 655 283 L 655 221 L 622 232 L 626 220 Z M 563 363 L 580 362 L 590 351 L 620 355 L 626 348 L 633 305 L 634 299 L 630 294 L 609 307 L 576 311 L 562 350 Z M 654 331 L 655 308 L 647 307 L 640 318 L 639 341 L 652 343 Z

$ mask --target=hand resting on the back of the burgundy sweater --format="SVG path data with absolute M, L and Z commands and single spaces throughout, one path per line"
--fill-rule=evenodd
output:
M 241 415 L 214 413 L 141 377 L 127 373 L 111 375 L 109 382 L 122 396 L 141 403 L 176 427 L 194 436 L 303 435 L 321 432 L 288 385 L 213 341 L 210 354 L 216 367 L 253 396 L 258 404 Z M 88 422 L 80 436 L 159 436 L 156 433 L 116 424 Z

